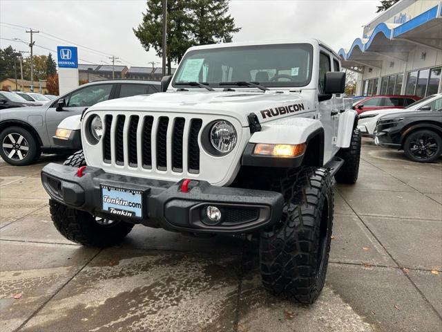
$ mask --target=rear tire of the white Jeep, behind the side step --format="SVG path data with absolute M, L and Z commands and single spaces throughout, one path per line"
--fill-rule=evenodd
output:
M 344 165 L 340 167 L 334 175 L 338 183 L 347 183 L 353 185 L 358 180 L 359 160 L 361 159 L 361 131 L 354 129 L 352 140 L 347 149 L 340 149 L 336 154 L 344 160 Z

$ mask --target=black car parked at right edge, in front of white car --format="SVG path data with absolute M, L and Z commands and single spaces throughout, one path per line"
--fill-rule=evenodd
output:
M 411 160 L 431 163 L 442 155 L 442 107 L 383 116 L 374 134 L 376 145 L 403 149 Z

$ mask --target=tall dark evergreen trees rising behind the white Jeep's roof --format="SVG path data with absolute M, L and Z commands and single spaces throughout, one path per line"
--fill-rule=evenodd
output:
M 147 0 L 142 23 L 133 33 L 145 50 L 153 48 L 162 57 L 162 0 Z M 240 30 L 227 15 L 229 0 L 167 1 L 167 68 L 180 62 L 187 48 L 198 44 L 230 42 Z

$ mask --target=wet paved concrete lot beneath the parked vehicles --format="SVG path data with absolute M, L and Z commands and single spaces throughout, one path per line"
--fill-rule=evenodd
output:
M 2 331 L 442 331 L 442 160 L 364 140 L 313 306 L 263 291 L 256 243 L 241 239 L 136 226 L 117 248 L 67 241 L 40 184 L 48 161 L 61 162 L 0 161 Z

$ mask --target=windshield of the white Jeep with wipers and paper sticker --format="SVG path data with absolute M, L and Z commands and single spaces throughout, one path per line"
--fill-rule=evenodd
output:
M 258 82 L 267 87 L 306 86 L 311 79 L 313 46 L 277 44 L 192 50 L 182 59 L 172 82 Z M 233 86 L 235 86 L 233 84 Z M 186 86 L 190 87 L 190 86 Z

